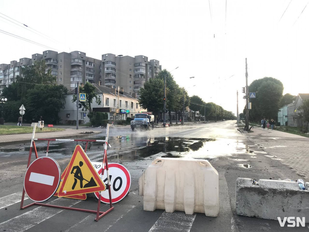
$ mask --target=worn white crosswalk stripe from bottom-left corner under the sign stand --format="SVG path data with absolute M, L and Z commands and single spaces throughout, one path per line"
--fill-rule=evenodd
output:
M 57 204 L 61 206 L 71 207 L 74 204 L 81 202 L 80 200 L 74 201 L 67 198 L 57 198 L 48 204 Z M 42 221 L 61 213 L 64 209 L 51 208 L 46 206 L 39 206 L 33 210 L 23 213 L 17 217 L 13 217 L 7 221 L 0 223 L 0 230 L 6 232 L 23 232 L 36 226 Z

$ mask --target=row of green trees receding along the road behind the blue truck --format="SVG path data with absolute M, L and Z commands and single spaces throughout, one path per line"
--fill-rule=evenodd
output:
M 140 89 L 139 104 L 143 108 L 148 109 L 148 111 L 152 111 L 155 119 L 158 117 L 160 111 L 163 112 L 164 77 L 166 78 L 166 109 L 168 109 L 170 123 L 171 111 L 176 112 L 176 118 L 178 118 L 178 112 L 181 115 L 184 113 L 183 105 L 185 108 L 189 107 L 195 112 L 199 111 L 202 116 L 204 116 L 205 109 L 207 120 L 215 120 L 216 116 L 220 119 L 236 119 L 231 112 L 224 110 L 221 106 L 213 102 L 206 103 L 196 95 L 189 97 L 188 92 L 184 88 L 180 88 L 171 73 L 166 69 L 160 71 L 157 78 L 149 79 L 144 84 L 144 87 Z

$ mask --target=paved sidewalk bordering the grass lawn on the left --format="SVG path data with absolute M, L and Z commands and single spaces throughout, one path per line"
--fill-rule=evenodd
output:
M 83 131 L 93 131 L 92 134 L 79 134 Z M 53 139 L 64 139 L 64 138 L 78 138 L 84 137 L 89 135 L 94 135 L 100 133 L 101 131 L 98 130 L 91 130 L 89 128 L 83 128 L 80 130 L 76 129 L 65 129 L 64 131 L 55 131 L 55 132 L 42 132 L 36 133 L 35 138 L 38 139 L 46 139 L 46 138 L 53 138 Z M 30 142 L 32 138 L 32 133 L 28 134 L 13 134 L 13 135 L 0 135 L 0 145 L 7 145 L 7 144 L 17 144 L 17 143 L 26 143 Z

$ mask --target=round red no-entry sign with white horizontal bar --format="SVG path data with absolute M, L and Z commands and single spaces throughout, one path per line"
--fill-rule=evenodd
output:
M 51 157 L 40 157 L 28 167 L 23 187 L 27 196 L 42 202 L 51 198 L 60 183 L 60 167 Z

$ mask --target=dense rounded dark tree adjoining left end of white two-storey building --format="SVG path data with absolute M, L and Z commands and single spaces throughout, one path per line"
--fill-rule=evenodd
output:
M 28 90 L 26 102 L 27 109 L 24 115 L 25 121 L 38 121 L 40 116 L 46 123 L 58 123 L 58 113 L 64 109 L 67 93 L 63 85 L 37 85 Z

